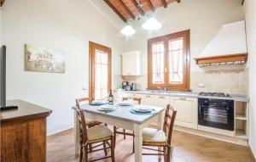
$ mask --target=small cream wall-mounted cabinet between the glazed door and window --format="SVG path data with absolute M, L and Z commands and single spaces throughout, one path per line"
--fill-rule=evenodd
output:
M 122 75 L 141 75 L 142 53 L 133 51 L 122 54 Z

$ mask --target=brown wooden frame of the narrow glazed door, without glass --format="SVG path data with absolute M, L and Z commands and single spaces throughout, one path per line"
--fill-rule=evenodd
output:
M 103 46 L 96 42 L 89 42 L 89 98 L 94 100 L 95 96 L 95 49 L 102 50 L 108 54 L 108 93 L 112 88 L 112 50 L 110 47 Z

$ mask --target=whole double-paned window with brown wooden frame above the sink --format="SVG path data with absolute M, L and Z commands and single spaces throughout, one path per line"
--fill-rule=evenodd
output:
M 189 90 L 189 33 L 148 40 L 148 89 Z

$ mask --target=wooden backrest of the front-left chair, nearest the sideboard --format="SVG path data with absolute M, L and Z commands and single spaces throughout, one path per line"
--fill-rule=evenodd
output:
M 85 123 L 84 111 L 82 109 L 79 109 L 79 107 L 76 108 L 76 111 L 77 117 L 79 118 L 80 142 L 82 144 L 88 142 L 87 126 Z

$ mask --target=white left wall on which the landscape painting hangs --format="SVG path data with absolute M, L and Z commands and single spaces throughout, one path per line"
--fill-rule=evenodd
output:
M 88 88 L 89 41 L 112 47 L 113 75 L 120 74 L 122 40 L 116 26 L 89 0 L 8 0 L 1 12 L 7 98 L 52 109 L 48 134 L 72 127 L 74 99 L 88 95 L 82 87 Z M 64 51 L 66 73 L 24 71 L 25 43 Z

